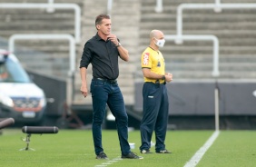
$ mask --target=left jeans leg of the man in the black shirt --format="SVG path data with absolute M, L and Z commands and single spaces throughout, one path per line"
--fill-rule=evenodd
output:
M 91 93 L 93 99 L 93 137 L 94 152 L 98 155 L 103 152 L 102 123 L 105 117 L 106 101 L 108 98 L 108 85 L 101 81 L 92 80 Z

